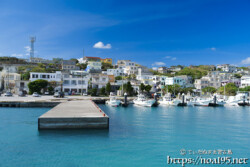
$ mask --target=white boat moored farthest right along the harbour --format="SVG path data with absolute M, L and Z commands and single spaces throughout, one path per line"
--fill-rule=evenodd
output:
M 236 96 L 229 96 L 226 101 L 226 105 L 228 106 L 239 106 L 239 103 L 246 103 L 248 98 L 248 94 L 245 92 L 238 92 Z

